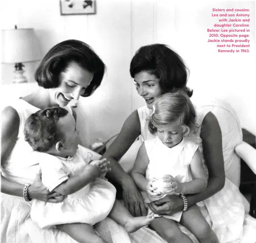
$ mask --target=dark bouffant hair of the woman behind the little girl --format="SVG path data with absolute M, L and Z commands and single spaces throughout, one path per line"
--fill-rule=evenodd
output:
M 159 85 L 163 94 L 173 89 L 183 89 L 189 97 L 193 94 L 193 91 L 186 87 L 189 73 L 186 65 L 182 58 L 166 45 L 143 46 L 135 53 L 130 65 L 130 74 L 134 78 L 135 74 L 141 71 L 154 74 L 160 79 Z

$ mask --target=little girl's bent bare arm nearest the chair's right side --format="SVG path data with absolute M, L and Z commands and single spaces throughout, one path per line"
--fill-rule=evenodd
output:
M 164 181 L 171 183 L 167 193 L 175 191 L 183 194 L 194 194 L 204 191 L 207 187 L 207 178 L 202 163 L 202 154 L 198 149 L 190 163 L 190 170 L 193 177 L 190 182 L 180 183 L 172 176 L 165 175 Z

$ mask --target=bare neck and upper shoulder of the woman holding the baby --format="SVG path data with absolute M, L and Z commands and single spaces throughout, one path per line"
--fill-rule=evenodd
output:
M 56 102 L 53 102 L 51 100 L 49 90 L 44 89 L 42 87 L 38 87 L 36 91 L 27 96 L 22 97 L 22 99 L 39 109 L 58 106 Z

